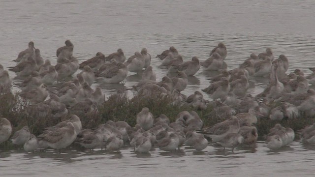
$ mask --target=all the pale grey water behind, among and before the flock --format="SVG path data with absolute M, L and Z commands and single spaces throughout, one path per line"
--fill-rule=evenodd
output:
M 271 47 L 276 57 L 287 56 L 289 71 L 299 68 L 309 74 L 308 67 L 315 66 L 314 9 L 314 0 L 1 0 L 0 60 L 4 66 L 14 66 L 12 59 L 31 40 L 52 63 L 66 39 L 73 42 L 74 56 L 80 61 L 118 48 L 129 57 L 146 47 L 154 58 L 170 46 L 185 60 L 193 56 L 204 60 L 224 42 L 229 69 L 251 53 Z M 166 73 L 159 64 L 153 59 L 158 81 Z M 209 74 L 213 73 L 200 69 L 183 93 L 206 88 Z M 125 86 L 139 80 L 129 73 Z M 268 82 L 251 80 L 253 94 Z M 118 87 L 122 85 L 102 86 L 107 96 Z M 118 154 L 67 150 L 61 155 L 11 150 L 0 152 L 0 176 L 314 176 L 314 149 L 298 141 L 279 151 L 270 151 L 263 142 L 257 146 L 254 151 L 225 155 L 213 146 L 201 153 L 156 149 L 149 156 L 136 155 L 130 148 Z

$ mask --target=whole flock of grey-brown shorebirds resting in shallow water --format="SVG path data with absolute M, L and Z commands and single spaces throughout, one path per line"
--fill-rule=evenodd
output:
M 54 118 L 61 118 L 68 115 L 70 109 L 97 111 L 98 106 L 105 102 L 105 96 L 100 88 L 91 88 L 95 79 L 106 84 L 120 83 L 126 79 L 128 72 L 134 72 L 142 73 L 141 82 L 133 87 L 141 96 L 169 95 L 173 99 L 172 104 L 187 104 L 196 110 L 211 105 L 213 111 L 209 113 L 209 118 L 217 118 L 221 122 L 204 128 L 194 111 L 183 111 L 175 122 L 170 122 L 163 114 L 154 118 L 145 107 L 138 113 L 134 127 L 125 121 L 110 120 L 94 130 L 82 129 L 80 118 L 71 115 L 70 119 L 45 128 L 37 137 L 31 134 L 28 126 L 11 137 L 10 118 L 0 118 L 0 144 L 11 137 L 13 144 L 24 145 L 28 152 L 49 147 L 60 150 L 78 143 L 88 149 L 106 148 L 112 151 L 130 145 L 136 151 L 145 153 L 153 147 L 173 151 L 183 145 L 202 150 L 211 139 L 224 149 L 232 148 L 233 151 L 238 145 L 255 147 L 257 118 L 282 120 L 315 115 L 315 90 L 309 89 L 309 84 L 315 84 L 315 72 L 306 77 L 299 69 L 287 74 L 288 59 L 284 55 L 274 59 L 270 48 L 259 55 L 251 54 L 238 68 L 228 71 L 224 61 L 227 50 L 223 43 L 219 43 L 203 62 L 199 62 L 197 57 L 184 62 L 175 47 L 170 47 L 157 56 L 161 65 L 168 69 L 167 76 L 157 82 L 150 66 L 151 56 L 145 48 L 127 60 L 123 50 L 118 49 L 107 57 L 98 52 L 92 59 L 79 64 L 73 56 L 73 47 L 71 41 L 66 40 L 65 46 L 57 49 L 57 64 L 53 66 L 49 59 L 44 61 L 41 58 L 39 49 L 30 42 L 29 48 L 20 52 L 14 60 L 17 65 L 9 68 L 16 73 L 17 79 L 23 79 L 19 85 L 19 96 L 27 99 L 38 112 L 43 108 L 50 109 Z M 187 87 L 188 77 L 196 74 L 200 67 L 221 71 L 210 79 L 210 86 L 202 90 L 210 94 L 213 101 L 206 101 L 200 91 L 188 97 L 181 93 Z M 78 69 L 82 72 L 71 81 L 64 81 Z M 170 77 L 174 74 L 176 76 Z M 253 97 L 247 94 L 250 77 L 270 77 L 270 82 L 263 92 Z M 56 82 L 62 82 L 62 87 L 54 92 L 49 90 Z M 11 86 L 8 71 L 0 65 L 1 90 Z M 46 100 L 50 92 L 50 99 Z M 115 96 L 123 95 L 119 92 Z M 315 124 L 301 130 L 300 136 L 303 142 L 315 145 Z M 289 127 L 276 124 L 264 137 L 268 148 L 278 149 L 289 145 L 295 133 Z

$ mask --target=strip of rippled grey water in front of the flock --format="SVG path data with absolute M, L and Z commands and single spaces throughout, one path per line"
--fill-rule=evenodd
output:
M 154 176 L 180 174 L 184 177 L 197 174 L 208 176 L 209 173 L 236 177 L 314 175 L 314 172 L 307 170 L 314 165 L 311 157 L 314 153 L 314 147 L 303 145 L 301 141 L 294 141 L 279 150 L 270 150 L 260 141 L 256 148 L 239 147 L 234 149 L 234 153 L 230 148 L 224 151 L 211 143 L 202 151 L 182 147 L 180 151 L 165 152 L 154 148 L 146 154 L 137 153 L 133 148 L 124 148 L 119 152 L 69 148 L 63 149 L 62 154 L 52 149 L 35 153 L 16 149 L 0 153 L 0 174 L 10 177 L 21 174 L 42 176 L 43 172 L 73 177 L 105 173 L 109 173 L 109 176 L 128 174 L 130 177 L 148 173 Z M 298 165 L 302 162 L 302 166 Z

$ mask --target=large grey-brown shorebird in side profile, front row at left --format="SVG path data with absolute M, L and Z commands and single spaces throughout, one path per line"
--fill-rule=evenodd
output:
M 39 142 L 43 142 L 50 148 L 58 149 L 61 153 L 62 148 L 71 145 L 76 139 L 77 133 L 71 122 L 67 122 L 66 126 L 51 131 L 46 131 L 38 136 Z

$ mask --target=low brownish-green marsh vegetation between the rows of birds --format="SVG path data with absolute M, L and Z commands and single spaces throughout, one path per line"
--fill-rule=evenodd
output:
M 30 127 L 30 131 L 34 135 L 39 135 L 45 127 L 53 126 L 60 121 L 68 119 L 53 118 L 49 109 L 39 110 L 38 107 L 29 105 L 28 102 L 18 94 L 12 94 L 10 89 L 2 90 L 0 94 L 0 115 L 12 124 L 12 134 L 25 125 Z M 172 99 L 169 96 L 153 95 L 151 97 L 143 97 L 135 95 L 128 99 L 126 96 L 113 95 L 109 97 L 97 112 L 88 113 L 72 113 L 77 114 L 81 118 L 83 128 L 94 128 L 99 124 L 106 123 L 108 120 L 126 121 L 131 126 L 136 124 L 136 116 L 143 107 L 148 107 L 151 113 L 158 117 L 165 114 L 171 122 L 175 121 L 177 115 L 182 111 L 196 111 L 203 120 L 204 127 L 214 125 L 221 122 L 221 119 L 210 117 L 213 108 L 209 105 L 205 110 L 194 110 L 187 105 L 172 105 Z M 259 137 L 268 134 L 270 128 L 276 123 L 281 123 L 284 127 L 291 127 L 295 132 L 310 125 L 314 122 L 314 118 L 297 118 L 284 119 L 282 121 L 272 121 L 268 118 L 258 119 L 257 130 Z M 9 146 L 3 143 L 2 146 Z

